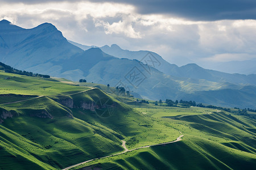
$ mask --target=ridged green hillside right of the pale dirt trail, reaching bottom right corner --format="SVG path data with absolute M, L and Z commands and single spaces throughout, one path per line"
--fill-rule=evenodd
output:
M 154 109 L 147 108 L 151 116 L 163 114 L 153 112 Z M 177 108 L 170 108 L 169 113 L 166 108 L 165 113 L 169 116 L 182 113 L 174 113 L 173 109 Z M 187 112 L 195 109 L 189 108 Z M 127 152 L 73 169 L 85 166 L 102 169 L 254 169 L 256 134 L 251 131 L 256 129 L 254 120 L 223 112 L 159 119 L 182 131 L 183 141 Z

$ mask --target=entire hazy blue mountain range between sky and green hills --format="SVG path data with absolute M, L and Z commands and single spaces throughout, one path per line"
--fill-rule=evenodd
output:
M 178 67 L 156 53 L 118 45 L 81 45 L 49 23 L 24 29 L 2 20 L 0 47 L 0 61 L 19 70 L 125 87 L 144 99 L 256 108 L 255 74 L 222 73 L 194 63 Z

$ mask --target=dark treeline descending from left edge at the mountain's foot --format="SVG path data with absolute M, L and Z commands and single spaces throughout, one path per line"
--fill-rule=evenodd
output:
M 5 73 L 14 73 L 14 74 L 19 74 L 19 75 L 39 76 L 39 77 L 43 77 L 43 78 L 50 78 L 49 75 L 34 74 L 34 73 L 30 72 L 30 71 L 22 71 L 22 70 L 14 69 L 13 67 L 5 65 L 2 62 L 0 62 L 0 70 L 4 70 Z

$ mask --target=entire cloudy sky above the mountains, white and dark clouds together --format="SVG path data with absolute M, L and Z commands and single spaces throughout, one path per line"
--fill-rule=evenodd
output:
M 52 23 L 68 40 L 151 50 L 177 65 L 256 59 L 255 0 L 0 0 L 2 19 Z

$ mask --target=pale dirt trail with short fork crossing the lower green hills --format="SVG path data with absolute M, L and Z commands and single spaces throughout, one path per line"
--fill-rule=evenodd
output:
M 180 132 L 181 134 L 181 132 Z M 148 146 L 142 146 L 142 147 L 137 147 L 137 148 L 134 148 L 132 150 L 128 150 L 125 146 L 125 143 L 126 141 L 122 141 L 122 147 L 125 148 L 125 151 L 119 153 L 119 154 L 113 154 L 113 155 L 109 155 L 109 156 L 104 156 L 104 157 L 101 157 L 101 158 L 95 158 L 95 159 L 90 159 L 90 160 L 86 160 L 85 162 L 81 162 L 81 163 L 78 163 L 78 164 L 75 164 L 75 165 L 72 165 L 70 167 L 67 167 L 67 168 L 64 168 L 62 170 L 68 170 L 68 169 L 71 169 L 73 167 L 77 167 L 81 164 L 85 164 L 85 163 L 88 163 L 88 162 L 91 162 L 93 160 L 96 160 L 96 159 L 102 159 L 102 158 L 109 158 L 110 156 L 117 156 L 117 155 L 121 155 L 121 154 L 124 154 L 125 152 L 130 152 L 130 151 L 134 151 L 134 150 L 138 150 L 140 148 L 146 148 L 146 147 L 151 147 L 151 146 L 159 146 L 159 145 L 166 145 L 166 144 L 169 144 L 169 143 L 174 143 L 174 142 L 179 142 L 182 140 L 182 137 L 184 137 L 183 134 L 181 134 L 179 137 L 177 137 L 177 139 L 175 141 L 172 141 L 172 142 L 166 142 L 166 143 L 159 143 L 159 144 L 155 144 L 155 145 L 148 145 Z

